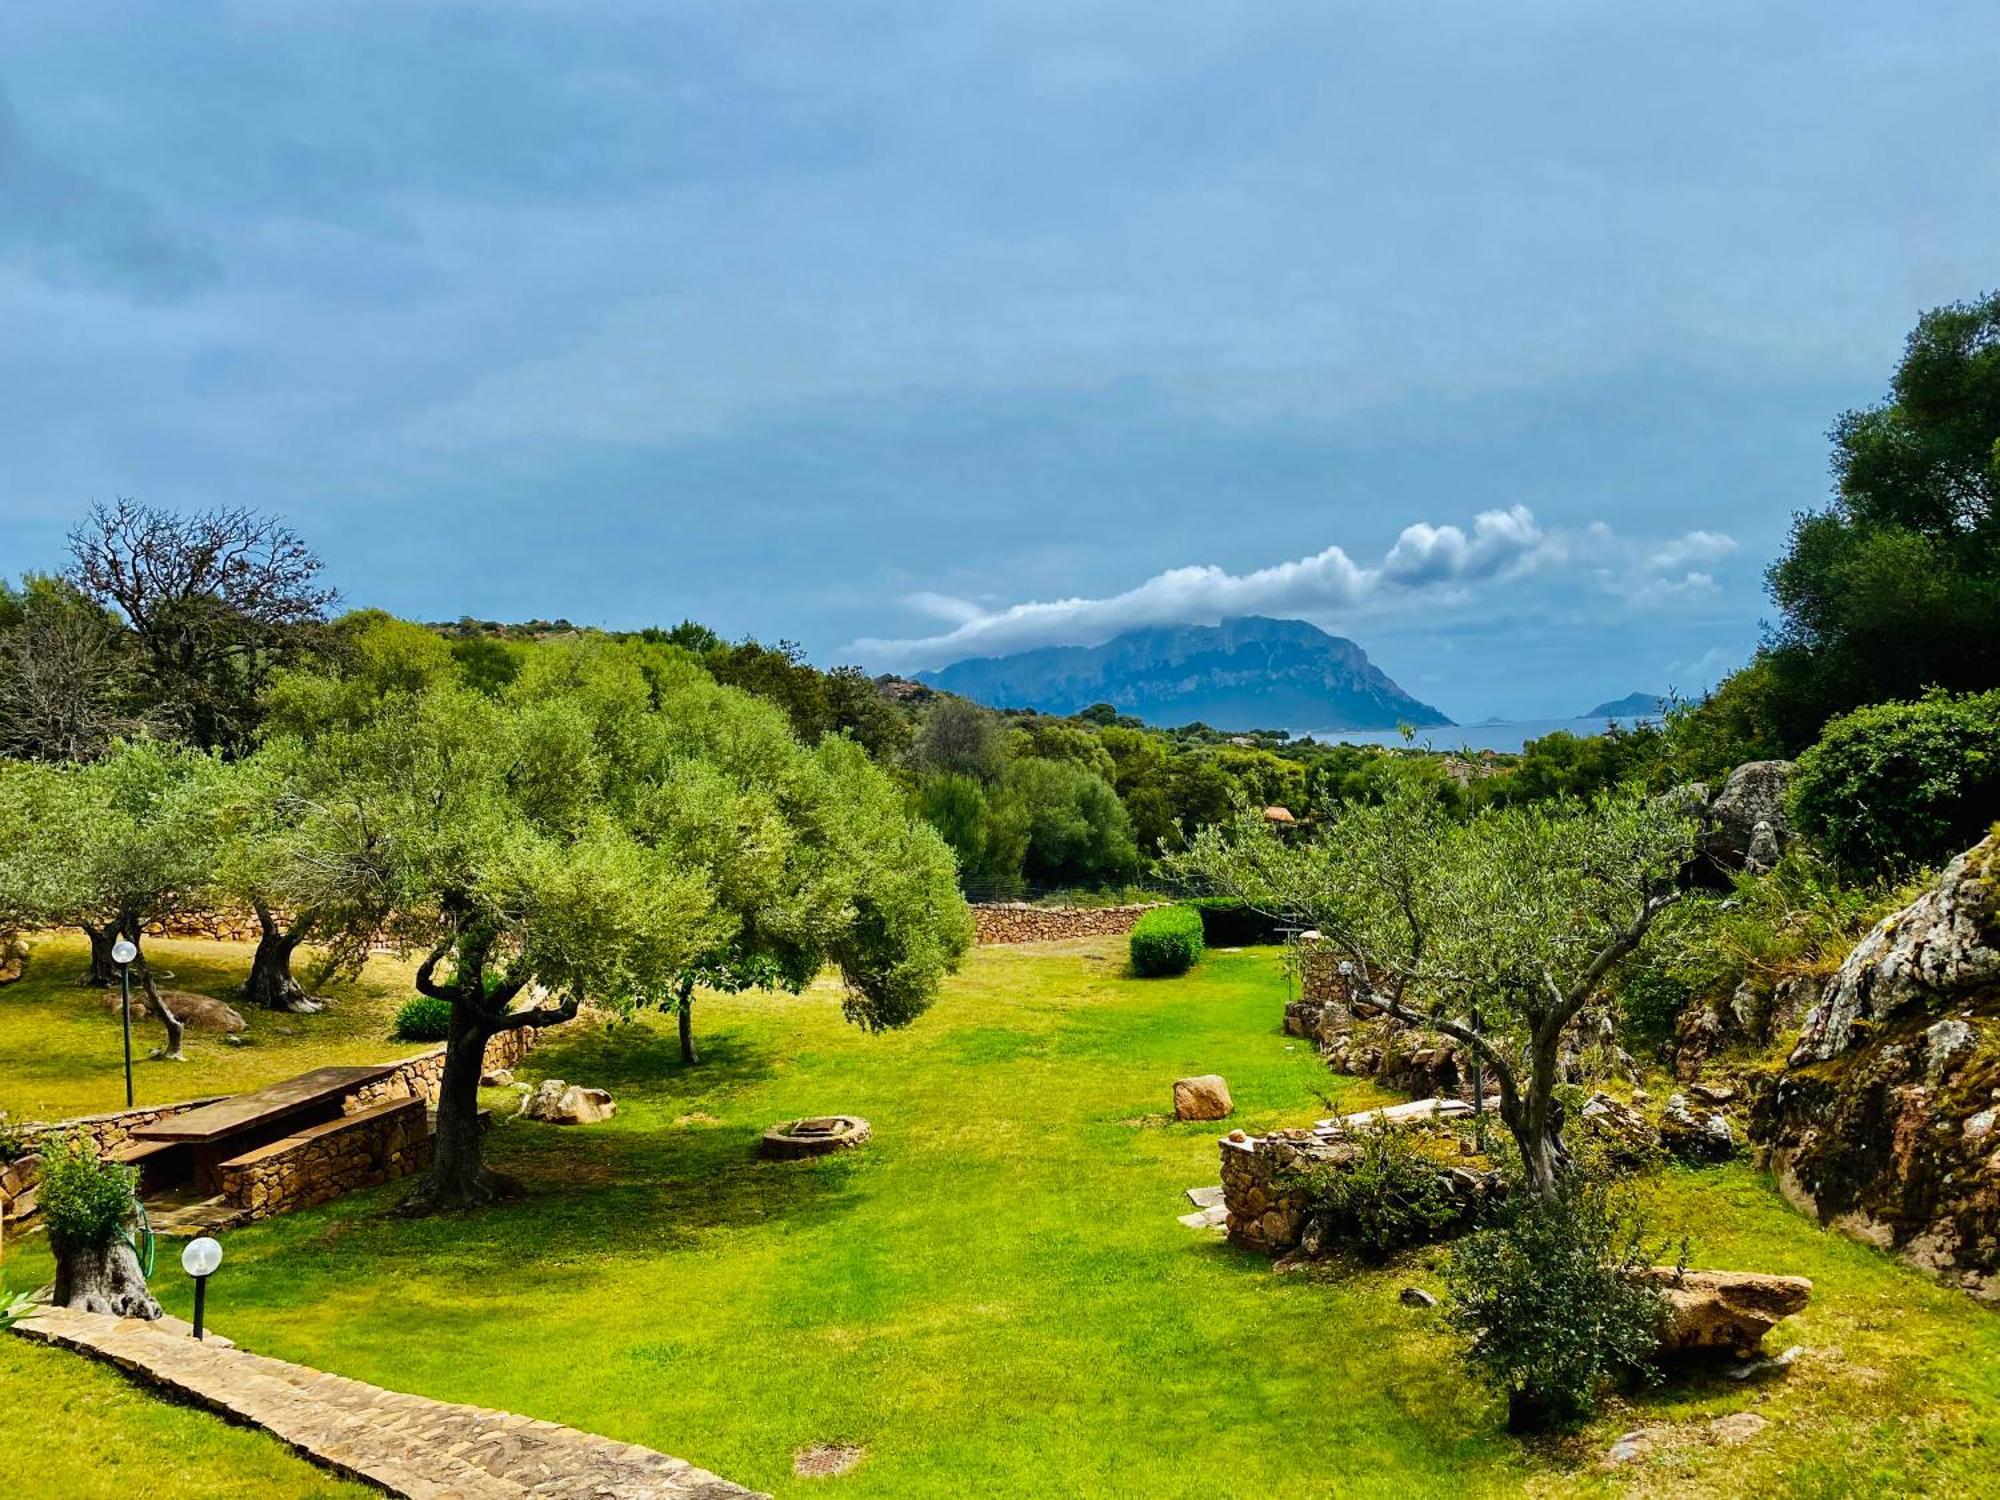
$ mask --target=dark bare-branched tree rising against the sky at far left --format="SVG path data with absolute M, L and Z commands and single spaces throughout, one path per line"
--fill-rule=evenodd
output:
M 276 516 L 118 500 L 70 532 L 68 578 L 132 626 L 156 712 L 204 750 L 242 748 L 272 668 L 338 594 Z

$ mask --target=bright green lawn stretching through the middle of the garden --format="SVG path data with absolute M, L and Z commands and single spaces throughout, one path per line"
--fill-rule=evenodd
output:
M 524 1204 L 402 1222 L 396 1190 L 228 1236 L 210 1316 L 252 1348 L 646 1442 L 784 1496 L 1972 1494 L 2000 1466 L 2000 1320 L 1790 1212 L 1748 1168 L 1674 1172 L 1656 1226 L 1698 1264 L 1800 1272 L 1764 1386 L 1670 1386 L 1570 1444 L 1522 1446 L 1452 1364 L 1434 1256 L 1270 1274 L 1174 1222 L 1216 1180 L 1216 1128 L 1170 1084 L 1222 1072 L 1250 1130 L 1376 1102 L 1278 1034 L 1270 950 L 1140 982 L 1122 944 L 988 948 L 906 1032 L 838 992 L 704 1000 L 672 1028 L 578 1022 L 524 1072 L 610 1088 L 616 1120 L 504 1122 Z M 10 1000 L 0 998 L 0 1012 Z M 342 1022 L 344 1024 L 344 1022 Z M 310 1028 L 310 1022 L 302 1022 Z M 6 1098 L 18 1050 L 0 1052 Z M 188 1064 L 190 1074 L 200 1064 Z M 854 1112 L 862 1152 L 752 1154 L 772 1120 Z M 34 1242 L 6 1278 L 46 1276 Z M 186 1286 L 164 1278 L 186 1314 Z M 12 1376 L 0 1370 L 0 1390 Z M 1756 1410 L 1740 1448 L 1666 1444 L 1596 1470 L 1632 1426 Z M 812 1442 L 868 1456 L 792 1478 Z

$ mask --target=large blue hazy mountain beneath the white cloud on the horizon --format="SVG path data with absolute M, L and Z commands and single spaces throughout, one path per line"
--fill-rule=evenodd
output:
M 988 708 L 1076 714 L 1108 702 L 1148 724 L 1218 730 L 1388 730 L 1452 720 L 1404 692 L 1368 652 L 1304 620 L 1232 616 L 1126 630 L 1098 646 L 970 656 L 918 682 Z

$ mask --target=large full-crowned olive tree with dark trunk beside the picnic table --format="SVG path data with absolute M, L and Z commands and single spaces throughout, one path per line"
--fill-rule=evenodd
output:
M 416 988 L 452 1006 L 412 1210 L 512 1190 L 480 1158 L 478 1078 L 500 1032 L 586 1002 L 672 1004 L 730 952 L 830 962 L 852 1020 L 900 1026 L 970 940 L 950 852 L 858 746 L 800 748 L 776 708 L 678 650 L 554 642 L 498 696 L 426 682 L 368 714 L 340 692 L 290 702 L 340 704 L 318 724 L 290 712 L 268 746 L 324 778 L 298 890 L 332 926 L 384 914 L 422 954 Z

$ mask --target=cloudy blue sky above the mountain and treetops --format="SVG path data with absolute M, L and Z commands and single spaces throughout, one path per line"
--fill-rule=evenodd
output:
M 1462 718 L 1700 688 L 1916 312 L 1990 4 L 0 12 L 0 568 L 934 666 L 1298 614 Z

